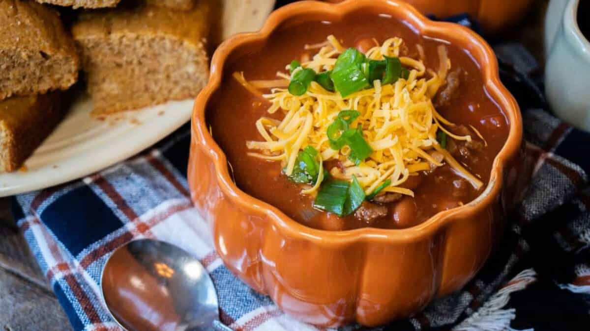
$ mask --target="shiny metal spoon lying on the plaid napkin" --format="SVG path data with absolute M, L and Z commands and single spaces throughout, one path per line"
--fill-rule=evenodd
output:
M 230 330 L 215 287 L 195 257 L 152 239 L 119 247 L 101 276 L 104 302 L 127 330 Z

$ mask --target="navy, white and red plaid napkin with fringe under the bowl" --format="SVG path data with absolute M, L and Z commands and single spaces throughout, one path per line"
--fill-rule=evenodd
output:
M 465 18 L 464 24 L 470 22 Z M 499 250 L 464 289 L 378 329 L 590 328 L 590 135 L 543 110 L 541 72 L 518 44 L 497 45 L 504 84 L 523 110 L 532 181 Z M 101 267 L 114 249 L 157 238 L 198 257 L 235 330 L 316 330 L 284 315 L 223 266 L 186 182 L 189 127 L 82 180 L 14 198 L 15 218 L 75 330 L 118 330 L 101 302 Z M 357 325 L 345 330 L 363 329 Z

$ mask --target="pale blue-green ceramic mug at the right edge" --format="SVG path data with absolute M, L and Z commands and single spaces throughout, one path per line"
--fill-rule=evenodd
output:
M 578 27 L 581 1 L 590 0 L 549 3 L 545 18 L 545 92 L 558 117 L 590 131 L 590 42 Z

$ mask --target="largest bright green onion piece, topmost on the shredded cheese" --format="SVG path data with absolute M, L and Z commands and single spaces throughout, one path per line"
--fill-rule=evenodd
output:
M 363 62 L 365 54 L 356 48 L 346 49 L 336 59 L 331 77 L 336 91 L 340 92 L 342 97 L 369 86 L 369 81 L 361 68 Z

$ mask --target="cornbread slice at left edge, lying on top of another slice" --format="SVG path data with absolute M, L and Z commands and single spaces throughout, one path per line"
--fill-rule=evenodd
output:
M 57 11 L 32 1 L 0 0 L 0 100 L 65 90 L 80 60 Z

